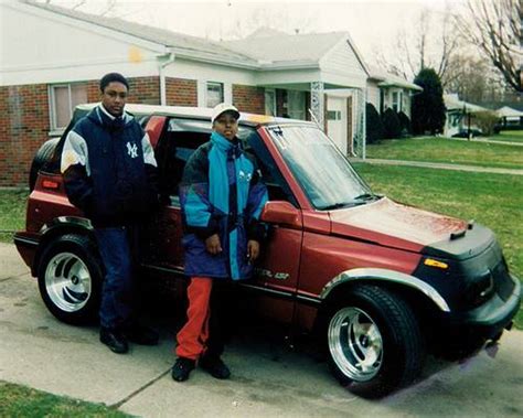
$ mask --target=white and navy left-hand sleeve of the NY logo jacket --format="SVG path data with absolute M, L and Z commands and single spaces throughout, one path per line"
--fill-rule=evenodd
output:
M 61 172 L 70 202 L 88 213 L 93 203 L 93 182 L 87 143 L 74 130 L 67 133 L 64 142 Z

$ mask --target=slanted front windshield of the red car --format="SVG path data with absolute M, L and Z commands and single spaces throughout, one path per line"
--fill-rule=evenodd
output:
M 301 125 L 267 130 L 316 208 L 350 207 L 377 199 L 320 129 Z

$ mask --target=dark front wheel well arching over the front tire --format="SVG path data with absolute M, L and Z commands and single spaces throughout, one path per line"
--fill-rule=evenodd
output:
M 386 280 L 354 280 L 337 286 L 331 290 L 327 299 L 322 301 L 317 317 L 317 322 L 314 324 L 316 332 L 321 332 L 322 328 L 327 324 L 325 322 L 331 307 L 340 303 L 351 291 L 351 289 L 362 285 L 375 285 L 404 299 L 416 314 L 421 332 L 424 333 L 433 328 L 426 325 L 429 325 L 430 321 L 434 321 L 436 318 L 438 318 L 440 313 L 440 310 L 436 303 L 434 303 L 434 301 L 425 293 L 415 288 Z

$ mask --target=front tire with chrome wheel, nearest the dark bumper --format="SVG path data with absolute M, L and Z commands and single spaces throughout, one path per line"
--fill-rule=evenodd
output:
M 372 285 L 354 287 L 334 303 L 327 322 L 333 375 L 350 392 L 377 398 L 413 383 L 425 344 L 412 308 Z

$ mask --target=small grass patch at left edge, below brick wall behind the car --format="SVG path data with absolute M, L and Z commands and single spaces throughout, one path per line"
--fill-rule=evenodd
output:
M 12 243 L 13 232 L 25 226 L 25 202 L 29 191 L 0 191 L 0 242 Z

